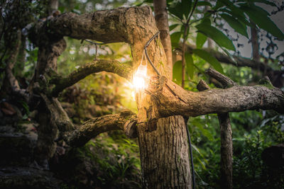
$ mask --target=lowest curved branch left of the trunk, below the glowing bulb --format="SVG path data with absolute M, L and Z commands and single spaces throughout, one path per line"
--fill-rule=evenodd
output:
M 124 130 L 126 135 L 135 137 L 136 122 L 136 114 L 132 113 L 130 110 L 124 110 L 119 114 L 104 115 L 99 118 L 87 120 L 87 122 L 84 122 L 76 130 L 65 133 L 63 139 L 72 147 L 80 147 L 102 132 L 110 130 Z M 131 133 L 128 132 L 128 127 L 132 127 Z

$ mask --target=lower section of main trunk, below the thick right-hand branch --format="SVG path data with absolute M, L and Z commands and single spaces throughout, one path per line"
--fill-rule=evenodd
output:
M 182 116 L 138 125 L 143 187 L 191 188 L 190 162 Z

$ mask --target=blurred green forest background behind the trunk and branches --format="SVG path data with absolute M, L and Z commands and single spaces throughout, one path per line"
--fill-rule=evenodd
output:
M 212 52 L 222 52 L 222 55 L 233 59 L 234 56 L 241 56 L 262 62 L 273 69 L 274 72 L 271 73 L 271 75 L 275 74 L 271 77 L 274 79 L 273 84 L 283 88 L 283 38 L 275 37 L 274 34 L 277 32 L 271 31 L 269 25 L 255 29 L 256 35 L 252 39 L 251 31 L 253 30 L 248 25 L 241 22 L 236 23 L 232 19 L 236 18 L 234 13 L 238 11 L 234 9 L 233 5 L 236 1 L 224 1 L 227 2 L 224 4 L 229 7 L 228 10 L 232 10 L 232 17 L 225 14 L 224 10 L 221 12 L 214 11 L 217 10 L 219 1 L 200 1 L 197 3 L 197 8 L 192 16 L 189 33 L 184 35 L 185 25 L 182 24 L 182 15 L 186 10 L 182 8 L 180 1 L 169 0 L 167 2 L 170 38 L 175 62 L 173 79 L 176 83 L 181 84 L 182 82 L 180 42 L 185 39 L 189 49 L 185 55 L 187 70 L 185 88 L 187 90 L 197 91 L 196 85 L 200 79 L 207 81 L 212 88 L 218 87 L 217 81 L 204 74 L 204 71 L 209 67 L 214 67 L 223 72 L 240 85 L 257 84 L 263 76 L 269 74 L 268 71 L 271 71 L 263 70 L 261 66 L 243 67 L 234 63 L 222 62 L 222 60 L 208 55 L 206 51 L 201 50 L 202 48 L 210 48 Z M 21 6 L 18 6 L 17 3 Z M 283 1 L 263 0 L 253 1 L 253 4 L 256 5 L 254 8 L 260 11 L 259 15 L 261 13 L 271 14 L 273 22 L 278 25 L 280 30 L 283 30 Z M 82 14 L 120 6 L 141 5 L 153 6 L 153 1 L 60 0 L 59 10 L 61 13 Z M 35 18 L 46 16 L 45 6 L 45 1 L 1 0 L 0 68 L 1 70 L 5 69 L 4 60 L 7 56 L 5 52 L 9 48 L 9 42 L 11 42 L 6 38 L 10 30 L 21 25 L 19 27 L 23 33 L 22 45 L 13 74 L 23 88 L 28 86 L 28 82 L 33 76 L 38 55 L 38 47 L 35 47 L 25 36 L 25 27 L 28 25 L 28 20 L 32 21 Z M 11 13 L 13 11 L 18 12 L 18 14 Z M 241 14 L 244 15 L 244 12 L 241 12 Z M 213 42 L 204 33 L 197 33 L 197 29 L 193 25 L 199 23 L 201 18 L 204 17 L 207 19 L 202 21 L 209 22 L 209 25 L 222 31 L 223 35 L 234 43 L 236 50 L 230 50 L 228 47 L 225 48 L 229 50 L 225 50 L 222 45 Z M 253 18 L 253 16 L 250 17 Z M 26 21 L 23 21 L 23 19 L 26 19 Z M 253 25 L 251 26 L 253 27 Z M 198 30 L 202 30 L 202 28 L 198 28 Z M 208 37 L 218 38 L 214 34 L 208 35 Z M 92 62 L 96 57 L 116 59 L 119 62 L 129 64 L 131 62 L 131 50 L 128 44 L 114 43 L 96 47 L 87 41 L 71 38 L 65 38 L 65 40 L 67 41 L 67 49 L 58 59 L 58 72 L 62 75 L 67 75 L 81 65 Z M 218 42 L 220 39 L 214 40 Z M 253 42 L 258 42 L 258 57 L 253 56 L 253 48 L 255 49 Z M 200 50 L 195 49 L 195 47 Z M 3 81 L 4 71 L 1 71 L 0 79 Z M 3 86 L 2 82 L 0 85 Z M 124 108 L 137 112 L 133 88 L 129 81 L 106 72 L 87 76 L 86 79 L 63 91 L 59 99 L 62 107 L 65 108 L 75 124 L 101 115 L 119 113 Z M 8 123 L 13 125 L 15 132 L 34 133 L 36 135 L 38 123 L 33 120 L 35 112 L 29 110 L 25 102 L 16 98 L 6 101 L 3 93 L 1 93 L 0 101 L 1 125 Z M 284 188 L 283 159 L 281 160 L 282 164 L 275 165 L 273 162 L 264 161 L 262 156 L 263 150 L 266 148 L 284 143 L 284 115 L 279 115 L 273 110 L 258 110 L 230 113 L 230 117 L 234 142 L 234 188 Z M 190 118 L 187 126 L 192 137 L 197 188 L 219 188 L 220 131 L 217 115 Z M 1 129 L 1 132 L 3 132 L 2 130 L 4 129 Z M 84 147 L 72 149 L 68 153 L 65 153 L 66 149 L 67 146 L 64 142 L 58 144 L 55 157 L 50 164 L 50 170 L 61 181 L 61 188 L 141 188 L 138 144 L 136 139 L 127 138 L 123 132 L 113 131 L 100 134 Z M 26 154 L 26 156 L 28 155 Z M 4 163 L 1 162 L 1 164 Z M 66 171 L 66 169 L 69 171 Z

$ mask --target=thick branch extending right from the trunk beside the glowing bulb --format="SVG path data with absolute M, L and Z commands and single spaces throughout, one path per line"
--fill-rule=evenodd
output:
M 158 107 L 160 116 L 197 116 L 209 113 L 240 112 L 244 110 L 276 110 L 284 113 L 284 93 L 271 86 L 233 86 L 202 92 L 185 91 L 167 81 L 168 87 L 160 88 L 160 80 L 153 77 L 148 93 Z M 170 90 L 168 89 L 170 88 Z

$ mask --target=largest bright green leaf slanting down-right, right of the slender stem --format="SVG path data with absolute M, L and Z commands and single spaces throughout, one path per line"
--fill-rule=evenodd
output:
M 195 28 L 207 37 L 212 38 L 218 45 L 225 47 L 228 50 L 235 50 L 233 42 L 217 28 L 203 23 L 196 25 Z

